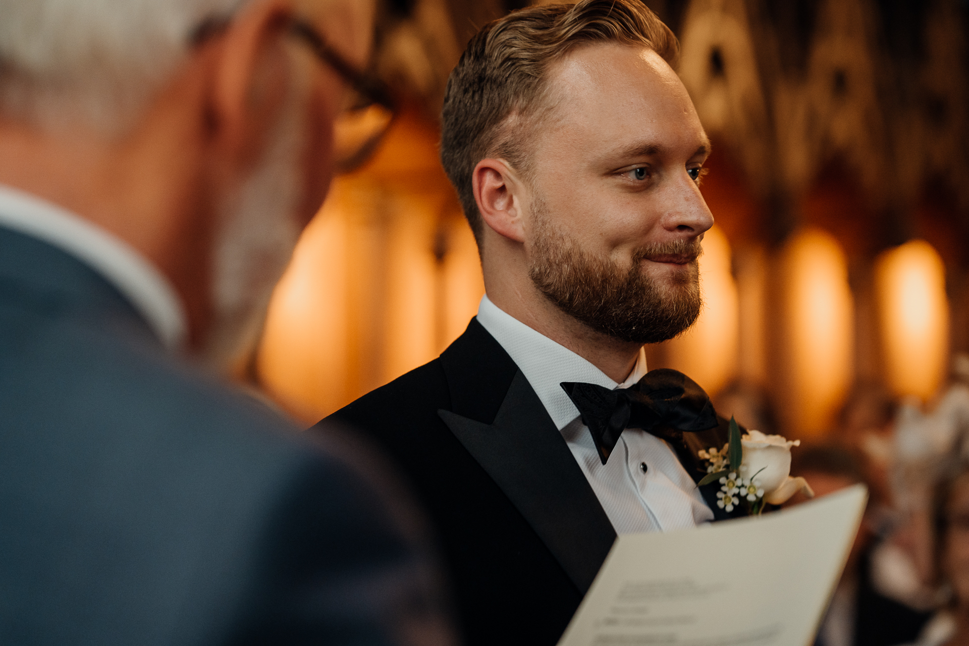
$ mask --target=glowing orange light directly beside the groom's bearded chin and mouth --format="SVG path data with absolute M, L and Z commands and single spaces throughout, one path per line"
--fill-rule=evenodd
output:
M 735 377 L 738 323 L 730 242 L 716 226 L 703 236 L 700 276 L 703 312 L 693 327 L 669 342 L 669 360 L 715 394 Z

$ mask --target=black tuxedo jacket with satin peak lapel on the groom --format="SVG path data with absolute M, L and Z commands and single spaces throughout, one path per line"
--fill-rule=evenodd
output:
M 328 419 L 360 429 L 410 478 L 436 525 L 468 644 L 558 641 L 615 532 L 538 395 L 481 323 Z M 686 436 L 677 452 L 699 479 L 696 449 L 723 446 L 725 429 Z

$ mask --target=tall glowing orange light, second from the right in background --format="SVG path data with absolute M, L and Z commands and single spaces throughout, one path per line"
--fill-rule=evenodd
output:
M 828 232 L 795 234 L 779 259 L 782 341 L 778 414 L 795 437 L 828 430 L 853 377 L 854 299 L 848 265 Z M 790 430 L 788 430 L 790 429 Z

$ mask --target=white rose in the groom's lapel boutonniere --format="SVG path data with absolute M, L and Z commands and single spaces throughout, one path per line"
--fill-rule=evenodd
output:
M 740 444 L 743 445 L 743 475 L 759 480 L 766 503 L 781 505 L 801 490 L 809 498 L 814 496 L 803 477 L 791 477 L 791 446 L 800 446 L 800 440 L 790 442 L 780 435 L 747 431 L 740 438 Z

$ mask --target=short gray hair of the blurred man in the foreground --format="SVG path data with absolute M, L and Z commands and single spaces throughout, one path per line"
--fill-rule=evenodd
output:
M 250 0 L 0 0 L 0 113 L 123 132 L 208 20 Z

